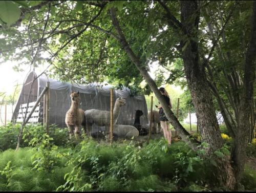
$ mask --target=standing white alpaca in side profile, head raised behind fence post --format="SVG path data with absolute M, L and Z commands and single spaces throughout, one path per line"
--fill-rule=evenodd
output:
M 113 109 L 113 125 L 116 124 L 117 119 L 121 112 L 121 106 L 126 105 L 124 98 L 117 98 Z M 88 127 L 87 133 L 90 135 L 93 123 L 97 126 L 106 126 L 106 136 L 110 133 L 110 111 L 101 111 L 97 109 L 90 109 L 85 111 L 86 126 Z M 108 137 L 108 136 L 107 136 Z

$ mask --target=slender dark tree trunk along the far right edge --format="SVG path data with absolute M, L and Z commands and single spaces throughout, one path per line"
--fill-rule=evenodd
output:
M 244 88 L 239 105 L 238 133 L 234 142 L 232 161 L 237 187 L 241 180 L 245 163 L 245 148 L 250 135 L 250 118 L 253 108 L 253 82 L 255 81 L 255 52 L 256 52 L 256 1 L 253 1 L 251 39 L 245 58 Z

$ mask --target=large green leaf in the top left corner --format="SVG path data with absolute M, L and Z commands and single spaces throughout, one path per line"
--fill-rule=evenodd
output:
M 18 5 L 11 1 L 0 1 L 0 19 L 10 26 L 14 24 L 20 16 Z

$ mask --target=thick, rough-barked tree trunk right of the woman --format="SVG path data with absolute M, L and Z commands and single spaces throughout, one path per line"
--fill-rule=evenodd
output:
M 216 182 L 220 185 L 234 188 L 234 174 L 228 156 L 217 157 L 214 152 L 223 147 L 219 125 L 217 122 L 212 96 L 207 84 L 204 67 L 199 64 L 198 52 L 198 24 L 199 11 L 197 1 L 181 1 L 181 23 L 186 33 L 193 38 L 183 38 L 182 58 L 188 89 L 193 100 L 202 140 L 209 144 L 207 155 L 217 162 L 214 173 Z

